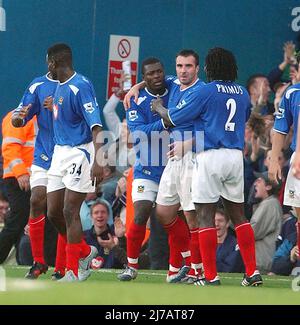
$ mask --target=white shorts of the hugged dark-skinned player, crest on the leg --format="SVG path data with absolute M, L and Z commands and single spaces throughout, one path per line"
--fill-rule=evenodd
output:
M 151 201 L 155 202 L 158 192 L 158 184 L 150 179 L 137 178 L 132 182 L 132 202 Z

